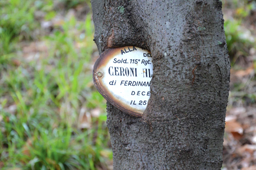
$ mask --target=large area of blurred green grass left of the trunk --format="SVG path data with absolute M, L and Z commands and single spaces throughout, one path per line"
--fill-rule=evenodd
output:
M 50 11 L 45 20 L 51 20 L 52 2 L 0 2 L 0 169 L 98 169 L 112 159 L 105 100 L 92 83 L 91 14 L 33 37 L 40 29 L 34 11 Z M 33 42 L 46 50 L 28 60 L 22 44 Z M 90 114 L 94 109 L 99 116 Z

